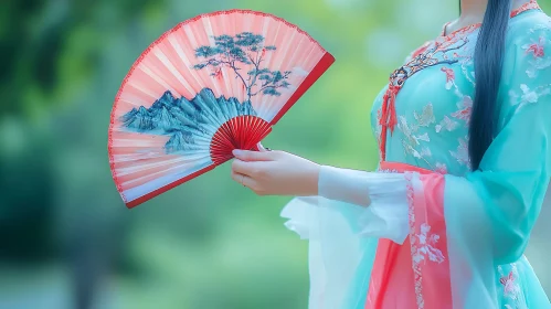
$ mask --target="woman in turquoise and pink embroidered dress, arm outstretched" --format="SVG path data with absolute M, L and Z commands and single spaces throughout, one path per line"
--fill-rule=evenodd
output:
M 234 153 L 235 181 L 305 196 L 283 215 L 310 242 L 310 308 L 551 307 L 523 256 L 551 177 L 551 19 L 460 4 L 375 99 L 378 171 Z

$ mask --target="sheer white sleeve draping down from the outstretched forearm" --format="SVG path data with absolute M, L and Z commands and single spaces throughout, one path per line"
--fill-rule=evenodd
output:
M 282 211 L 286 227 L 308 239 L 310 309 L 343 305 L 367 290 L 380 238 L 407 236 L 403 174 L 324 166 L 317 196 L 296 198 Z M 364 292 L 363 292 L 364 294 Z

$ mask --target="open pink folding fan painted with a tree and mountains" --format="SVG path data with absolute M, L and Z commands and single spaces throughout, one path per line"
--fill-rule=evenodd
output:
M 109 163 L 128 207 L 257 150 L 335 58 L 277 17 L 221 11 L 184 21 L 135 62 L 116 96 Z

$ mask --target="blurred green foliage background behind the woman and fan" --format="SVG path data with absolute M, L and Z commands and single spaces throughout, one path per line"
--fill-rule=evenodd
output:
M 307 308 L 289 198 L 254 195 L 225 164 L 128 211 L 110 178 L 130 65 L 178 22 L 232 8 L 296 23 L 337 58 L 264 145 L 354 169 L 377 163 L 369 113 L 389 73 L 458 13 L 455 0 L 1 1 L 1 309 Z M 527 255 L 551 294 L 549 219 Z

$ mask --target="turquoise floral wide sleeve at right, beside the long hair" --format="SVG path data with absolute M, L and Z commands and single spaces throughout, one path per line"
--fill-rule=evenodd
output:
M 511 33 L 499 132 L 477 171 L 444 177 L 443 210 L 430 210 L 443 212 L 452 291 L 462 303 L 497 306 L 492 270 L 522 256 L 544 201 L 551 175 L 550 29 L 548 20 Z

